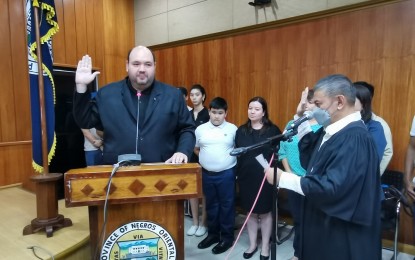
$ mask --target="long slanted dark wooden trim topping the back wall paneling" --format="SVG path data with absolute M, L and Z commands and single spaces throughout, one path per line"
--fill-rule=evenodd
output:
M 171 48 L 171 47 L 183 46 L 186 44 L 198 43 L 198 42 L 203 42 L 203 41 L 208 41 L 208 40 L 215 40 L 215 39 L 237 36 L 237 35 L 253 33 L 253 32 L 260 32 L 260 31 L 283 27 L 283 26 L 287 26 L 291 24 L 298 24 L 298 23 L 303 23 L 303 22 L 307 22 L 311 20 L 330 17 L 330 16 L 342 14 L 342 13 L 354 12 L 354 11 L 368 9 L 368 8 L 372 8 L 376 6 L 382 6 L 382 5 L 393 4 L 396 2 L 404 2 L 404 1 L 409 1 L 409 0 L 378 0 L 378 1 L 361 2 L 361 3 L 341 6 L 341 7 L 337 7 L 337 8 L 333 8 L 329 10 L 324 10 L 324 11 L 299 15 L 295 17 L 290 17 L 286 19 L 281 19 L 277 21 L 246 26 L 246 27 L 242 27 L 238 29 L 232 29 L 232 30 L 227 30 L 223 32 L 212 33 L 212 34 L 197 36 L 193 38 L 188 38 L 184 40 L 178 40 L 178 41 L 173 41 L 173 42 L 168 42 L 168 43 L 163 43 L 163 44 L 156 44 L 156 45 L 149 46 L 149 48 L 151 48 L 151 50 L 153 51 L 162 50 L 162 49 Z

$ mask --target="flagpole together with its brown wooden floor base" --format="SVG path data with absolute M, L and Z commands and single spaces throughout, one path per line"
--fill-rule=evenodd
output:
M 30 0 L 32 1 L 32 0 Z M 72 226 L 72 220 L 59 214 L 58 199 L 56 196 L 56 182 L 62 178 L 62 173 L 49 173 L 48 143 L 45 112 L 45 87 L 42 68 L 42 45 L 40 43 L 39 7 L 33 6 L 34 23 L 37 44 L 38 83 L 40 101 L 40 121 L 42 136 L 42 166 L 43 172 L 30 179 L 36 183 L 36 211 L 37 218 L 23 228 L 23 235 L 30 235 L 39 231 L 46 231 L 47 237 L 53 236 L 53 231 Z M 32 126 L 33 127 L 33 126 Z

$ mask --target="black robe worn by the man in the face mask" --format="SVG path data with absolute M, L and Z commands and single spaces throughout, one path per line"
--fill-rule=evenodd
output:
M 376 145 L 360 120 L 320 148 L 319 139 L 301 179 L 305 196 L 299 258 L 381 259 Z

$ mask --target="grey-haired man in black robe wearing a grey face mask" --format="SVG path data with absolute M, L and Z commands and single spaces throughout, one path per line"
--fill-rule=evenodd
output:
M 309 142 L 306 176 L 277 171 L 280 188 L 304 195 L 299 259 L 381 259 L 379 157 L 354 112 L 353 85 L 345 76 L 328 76 L 314 87 L 314 100 L 330 121 Z

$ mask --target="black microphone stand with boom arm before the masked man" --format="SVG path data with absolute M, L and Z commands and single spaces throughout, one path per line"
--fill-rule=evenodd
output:
M 298 126 L 297 126 L 298 127 Z M 276 165 L 278 163 L 278 150 L 279 150 L 279 142 L 280 141 L 291 141 L 292 137 L 298 133 L 297 127 L 294 127 L 290 131 L 287 131 L 283 134 L 276 135 L 270 138 L 267 138 L 265 141 L 259 142 L 257 144 L 253 144 L 247 147 L 240 147 L 236 148 L 234 151 L 231 152 L 231 155 L 237 156 L 244 154 L 248 151 L 260 148 L 266 144 L 272 142 L 278 142 L 278 145 L 273 146 L 273 154 L 274 156 L 274 182 L 273 187 L 275 187 L 274 192 L 272 194 L 272 232 L 271 232 L 271 260 L 277 259 L 277 200 L 278 200 L 278 187 L 277 187 L 277 169 Z

